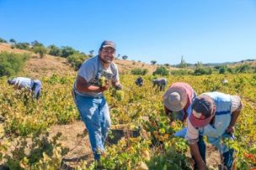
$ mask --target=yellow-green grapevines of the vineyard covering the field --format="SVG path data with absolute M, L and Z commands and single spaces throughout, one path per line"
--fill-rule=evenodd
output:
M 134 83 L 135 75 L 121 75 L 120 82 L 124 86 L 122 100 L 115 99 L 111 90 L 106 92 L 113 125 L 109 137 L 115 136 L 116 128 L 136 131 L 139 135 L 125 135 L 116 144 L 107 143 L 107 152 L 100 162 L 104 169 L 192 168 L 188 143 L 173 137 L 173 133 L 185 124 L 177 121 L 175 126 L 169 126 L 163 111 L 164 91 L 152 89 L 154 78 L 145 76 L 145 84 L 138 87 Z M 197 94 L 218 90 L 242 97 L 243 111 L 236 124 L 236 140 L 225 142 L 236 149 L 237 169 L 256 169 L 256 75 L 170 75 L 167 79 L 168 85 L 187 82 Z M 222 83 L 224 79 L 227 80 L 225 84 Z M 75 77 L 52 75 L 41 80 L 42 94 L 36 101 L 24 90 L 13 90 L 6 77 L 0 79 L 0 165 L 3 167 L 69 168 L 63 163 L 63 158 L 71 148 L 61 145 L 61 133 L 50 137 L 49 131 L 51 126 L 72 126 L 73 122 L 80 121 L 71 92 Z M 86 131 L 81 135 L 86 135 Z M 217 164 L 208 166 L 217 168 Z M 72 165 L 74 169 L 95 167 L 97 164 L 91 159 L 82 159 Z

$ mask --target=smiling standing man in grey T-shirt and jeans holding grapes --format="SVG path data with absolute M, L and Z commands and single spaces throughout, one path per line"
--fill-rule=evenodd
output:
M 110 85 L 122 89 L 114 58 L 115 43 L 104 41 L 99 48 L 99 55 L 81 65 L 73 88 L 74 100 L 88 130 L 96 161 L 104 154 L 104 143 L 110 128 L 109 106 L 104 91 L 109 90 Z

